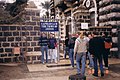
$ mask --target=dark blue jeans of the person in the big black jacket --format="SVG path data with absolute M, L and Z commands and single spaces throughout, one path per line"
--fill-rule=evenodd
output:
M 94 61 L 94 74 L 98 75 L 98 64 L 97 64 L 97 62 L 99 62 L 99 67 L 100 67 L 101 73 L 104 73 L 102 56 L 100 56 L 99 58 L 94 56 L 93 61 Z

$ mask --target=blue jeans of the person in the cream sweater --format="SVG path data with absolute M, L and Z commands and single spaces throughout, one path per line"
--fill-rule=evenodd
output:
M 82 68 L 80 70 L 80 61 L 82 63 Z M 76 66 L 77 66 L 77 73 L 81 73 L 82 75 L 85 74 L 85 63 L 86 63 L 86 52 L 77 53 L 76 54 Z

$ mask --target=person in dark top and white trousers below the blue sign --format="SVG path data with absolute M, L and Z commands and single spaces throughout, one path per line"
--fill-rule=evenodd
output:
M 49 49 L 50 49 L 50 58 L 51 58 L 51 63 L 55 62 L 57 63 L 57 57 L 56 57 L 56 46 L 57 46 L 57 40 L 54 37 L 53 33 L 50 33 L 50 38 L 49 38 Z

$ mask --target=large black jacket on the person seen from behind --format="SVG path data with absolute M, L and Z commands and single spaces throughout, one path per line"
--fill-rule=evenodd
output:
M 94 37 L 89 41 L 89 51 L 96 57 L 100 57 L 104 51 L 104 39 L 102 37 Z

